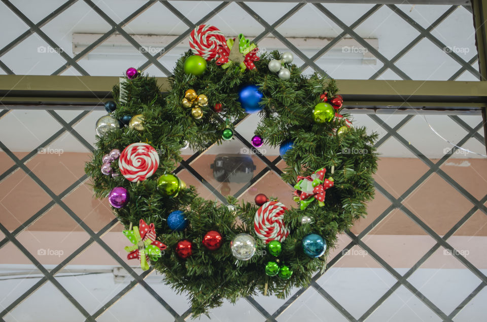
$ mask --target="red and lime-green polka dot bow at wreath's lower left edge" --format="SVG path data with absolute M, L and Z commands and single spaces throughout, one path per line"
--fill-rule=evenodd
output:
M 132 230 L 124 230 L 123 234 L 132 242 L 132 246 L 125 247 L 128 259 L 140 259 L 143 270 L 149 269 L 149 258 L 157 261 L 162 256 L 161 251 L 166 249 L 166 245 L 156 240 L 156 228 L 154 223 L 150 225 L 141 219 L 138 227 Z

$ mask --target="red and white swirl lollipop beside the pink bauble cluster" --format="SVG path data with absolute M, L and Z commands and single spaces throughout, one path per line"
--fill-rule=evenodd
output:
M 159 155 L 149 144 L 132 143 L 120 153 L 118 167 L 122 176 L 129 181 L 146 180 L 159 167 Z

